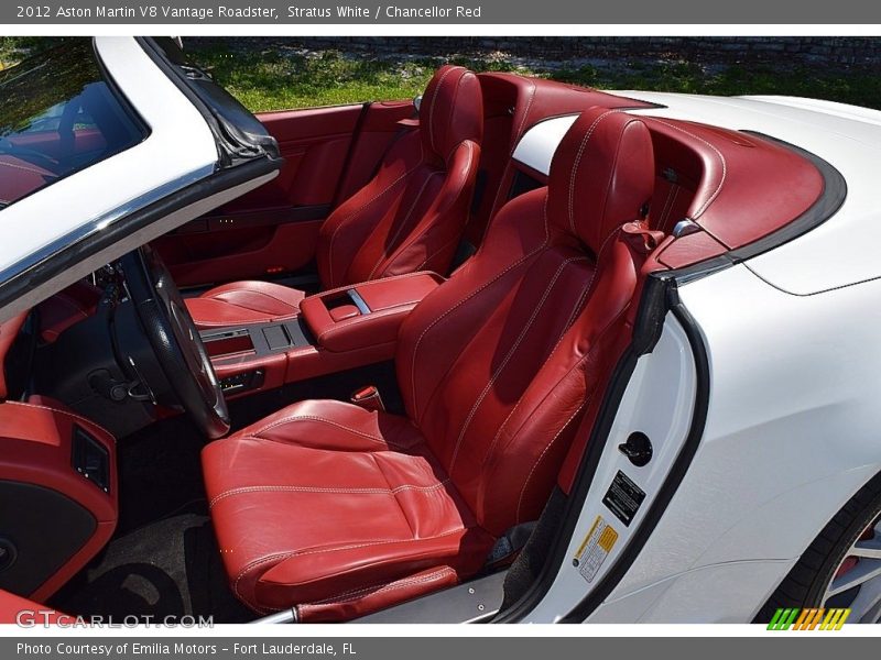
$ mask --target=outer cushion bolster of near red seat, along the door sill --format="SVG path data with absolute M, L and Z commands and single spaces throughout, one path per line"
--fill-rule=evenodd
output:
M 492 539 L 486 532 L 459 528 L 425 539 L 306 550 L 281 559 L 269 570 L 258 566 L 254 601 L 267 608 L 283 608 L 292 602 L 302 605 L 346 600 L 361 590 L 360 596 L 366 597 L 372 588 L 438 564 L 470 575 L 482 565 L 491 547 Z M 242 583 L 246 581 L 242 578 Z M 247 593 L 248 587 L 240 584 L 239 591 Z

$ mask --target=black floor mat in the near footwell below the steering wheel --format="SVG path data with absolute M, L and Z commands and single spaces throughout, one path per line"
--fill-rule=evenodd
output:
M 213 616 L 217 624 L 257 617 L 232 595 L 210 520 L 184 513 L 116 538 L 53 600 L 62 612 L 122 622 Z

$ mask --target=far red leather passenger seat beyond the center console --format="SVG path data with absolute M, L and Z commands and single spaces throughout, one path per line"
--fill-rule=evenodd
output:
M 480 160 L 480 82 L 460 66 L 437 70 L 420 125 L 401 136 L 376 176 L 322 224 L 323 288 L 415 271 L 446 273 L 465 230 Z M 268 282 L 233 282 L 187 299 L 199 328 L 295 316 L 305 294 Z

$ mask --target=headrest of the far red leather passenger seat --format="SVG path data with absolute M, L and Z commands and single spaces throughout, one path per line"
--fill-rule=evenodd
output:
M 466 140 L 480 144 L 483 98 L 472 72 L 453 65 L 437 69 L 422 97 L 420 131 L 425 153 L 444 162 Z

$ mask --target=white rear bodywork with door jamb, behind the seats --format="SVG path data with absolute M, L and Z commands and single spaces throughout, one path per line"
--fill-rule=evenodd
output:
M 665 107 L 632 111 L 638 114 L 774 135 L 828 161 L 848 182 L 845 204 L 820 227 L 679 286 L 707 348 L 704 435 L 644 548 L 586 619 L 750 622 L 817 531 L 881 471 L 881 415 L 870 386 L 881 372 L 881 262 L 874 255 L 881 223 L 870 183 L 881 153 L 881 112 L 797 98 L 613 94 Z M 573 121 L 536 125 L 514 157 L 547 172 Z M 627 429 L 664 438 L 655 448 L 666 463 L 639 481 L 648 493 L 656 491 L 656 473 L 663 477 L 668 454 L 687 432 L 681 420 L 690 418 L 694 381 L 682 326 L 670 315 L 662 341 L 640 359 L 630 382 L 568 556 L 602 513 L 600 498 L 614 472 L 627 465 L 616 451 Z M 632 470 L 630 476 L 637 479 Z M 564 563 L 529 620 L 557 620 L 585 597 L 586 586 Z

